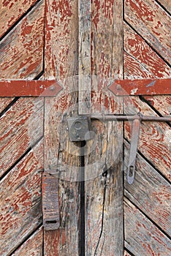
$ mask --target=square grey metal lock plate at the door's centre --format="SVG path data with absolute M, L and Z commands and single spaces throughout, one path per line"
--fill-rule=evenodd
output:
M 91 140 L 87 117 L 71 117 L 67 119 L 70 141 Z

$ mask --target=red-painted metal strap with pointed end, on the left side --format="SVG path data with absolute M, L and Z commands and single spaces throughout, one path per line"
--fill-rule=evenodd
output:
M 0 97 L 56 96 L 61 89 L 56 80 L 0 80 Z

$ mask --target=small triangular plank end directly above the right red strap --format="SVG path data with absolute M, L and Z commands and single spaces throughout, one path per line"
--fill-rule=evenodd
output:
M 123 65 L 125 79 L 153 78 L 151 72 L 129 53 L 123 52 Z

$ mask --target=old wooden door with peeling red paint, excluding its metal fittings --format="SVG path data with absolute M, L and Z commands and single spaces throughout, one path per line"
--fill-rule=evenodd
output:
M 132 185 L 130 122 L 96 119 L 82 143 L 69 142 L 67 126 L 78 112 L 170 115 L 170 96 L 108 89 L 115 79 L 170 77 L 170 1 L 0 6 L 1 80 L 62 88 L 26 97 L 6 84 L 17 97 L 0 98 L 1 255 L 170 255 L 170 123 L 142 122 Z M 42 170 L 58 181 L 58 230 L 42 227 Z

